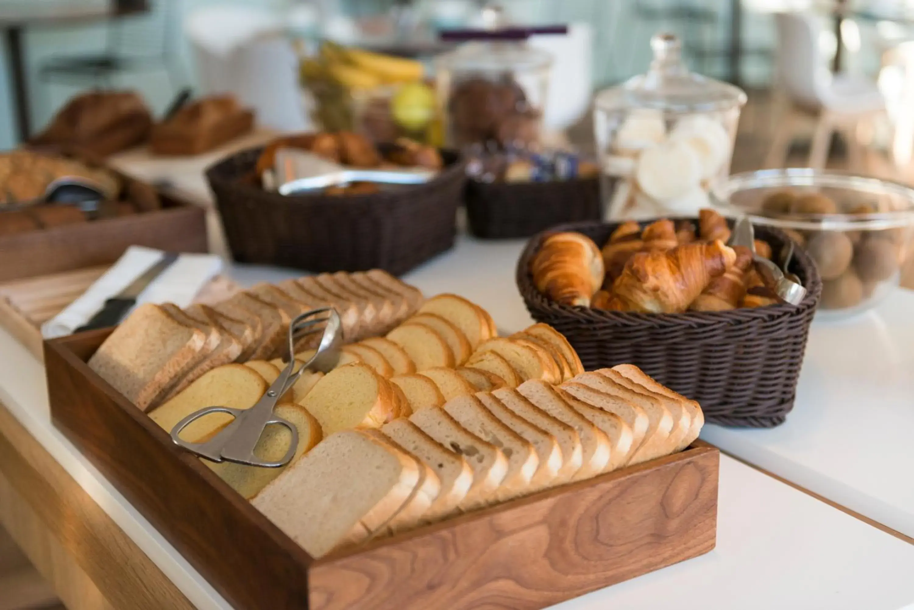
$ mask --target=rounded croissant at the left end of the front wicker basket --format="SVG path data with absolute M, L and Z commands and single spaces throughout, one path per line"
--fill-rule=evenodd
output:
M 575 232 L 553 233 L 530 264 L 539 292 L 562 305 L 590 305 L 603 284 L 603 258 L 597 244 Z

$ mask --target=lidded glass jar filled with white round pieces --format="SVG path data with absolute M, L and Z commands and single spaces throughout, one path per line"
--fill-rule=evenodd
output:
M 600 91 L 594 133 L 612 219 L 693 216 L 728 176 L 746 93 L 689 71 L 679 38 L 651 38 L 646 74 Z

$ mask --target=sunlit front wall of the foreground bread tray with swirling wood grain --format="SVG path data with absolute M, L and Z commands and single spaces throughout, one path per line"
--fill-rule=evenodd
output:
M 312 566 L 312 610 L 541 608 L 711 551 L 717 449 L 696 447 Z

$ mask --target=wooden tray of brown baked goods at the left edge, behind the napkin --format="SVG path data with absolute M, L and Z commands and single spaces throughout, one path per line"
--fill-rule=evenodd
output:
M 62 178 L 96 187 L 103 194 L 97 209 L 42 203 L 48 187 Z M 0 282 L 111 264 L 131 245 L 205 252 L 205 210 L 89 154 L 0 154 Z

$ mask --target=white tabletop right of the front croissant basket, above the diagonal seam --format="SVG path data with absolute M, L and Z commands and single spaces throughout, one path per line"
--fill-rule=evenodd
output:
M 786 423 L 708 425 L 701 436 L 914 538 L 914 292 L 845 322 L 813 322 Z

